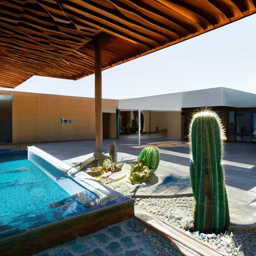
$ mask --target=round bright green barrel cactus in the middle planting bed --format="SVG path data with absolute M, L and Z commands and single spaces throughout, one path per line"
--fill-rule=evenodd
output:
M 138 155 L 138 162 L 142 162 L 150 170 L 150 174 L 155 172 L 160 160 L 159 149 L 156 146 L 146 146 Z

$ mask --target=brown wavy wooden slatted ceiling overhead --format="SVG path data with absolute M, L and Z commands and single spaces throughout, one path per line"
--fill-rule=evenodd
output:
M 79 79 L 254 13 L 256 0 L 0 0 L 0 86 Z

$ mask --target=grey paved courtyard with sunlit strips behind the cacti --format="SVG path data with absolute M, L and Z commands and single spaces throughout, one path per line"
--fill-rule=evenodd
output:
M 118 159 L 127 164 L 134 162 L 141 148 L 137 136 L 103 140 L 103 151 L 115 141 Z M 141 145 L 154 143 L 160 148 L 160 164 L 155 172 L 154 182 L 141 187 L 137 194 L 173 195 L 191 193 L 189 179 L 189 149 L 169 146 L 163 138 L 141 136 Z M 88 158 L 94 151 L 94 140 L 67 141 L 34 144 L 56 158 L 75 165 Z M 170 143 L 171 144 L 171 143 Z M 256 225 L 256 144 L 225 143 L 223 165 L 228 194 L 231 222 L 239 225 Z

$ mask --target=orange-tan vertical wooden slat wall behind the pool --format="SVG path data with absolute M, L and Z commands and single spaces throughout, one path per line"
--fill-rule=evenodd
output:
M 1 90 L 12 99 L 12 142 L 34 143 L 95 138 L 94 98 Z M 102 99 L 115 112 L 118 100 Z M 60 118 L 71 123 L 60 123 Z

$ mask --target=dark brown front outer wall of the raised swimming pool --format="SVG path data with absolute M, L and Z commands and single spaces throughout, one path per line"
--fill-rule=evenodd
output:
M 0 241 L 1 256 L 30 256 L 134 217 L 134 200 L 96 208 Z

